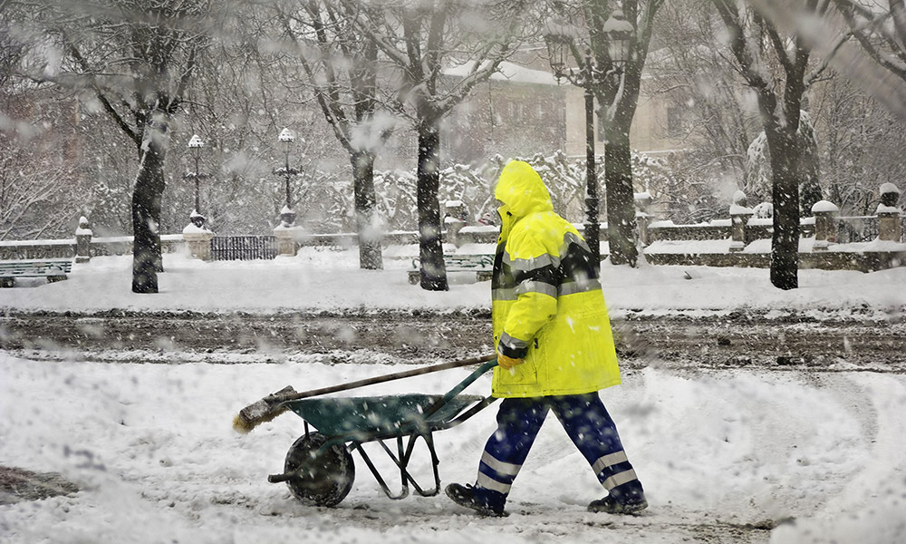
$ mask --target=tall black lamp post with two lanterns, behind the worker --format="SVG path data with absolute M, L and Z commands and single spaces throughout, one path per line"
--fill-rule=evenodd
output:
M 615 10 L 603 25 L 603 44 L 607 47 L 611 70 L 601 70 L 592 61 L 592 51 L 586 47 L 584 58 L 580 57 L 574 36 L 578 33 L 570 27 L 549 25 L 545 43 L 551 69 L 557 82 L 562 78 L 584 89 L 585 95 L 585 242 L 594 258 L 594 266 L 601 261 L 601 224 L 598 222 L 598 176 L 594 159 L 594 88 L 612 73 L 622 73 L 623 65 L 629 60 L 634 29 L 622 11 Z M 567 68 L 572 57 L 579 64 L 578 72 Z

